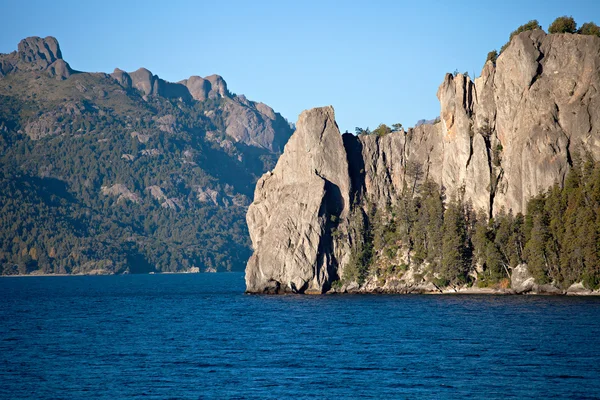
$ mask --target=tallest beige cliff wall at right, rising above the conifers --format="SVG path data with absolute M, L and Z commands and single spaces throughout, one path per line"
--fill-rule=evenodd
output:
M 563 183 L 574 154 L 598 159 L 599 71 L 598 37 L 536 30 L 517 35 L 474 83 L 447 75 L 438 91 L 443 186 L 464 186 L 491 214 L 523 212 Z

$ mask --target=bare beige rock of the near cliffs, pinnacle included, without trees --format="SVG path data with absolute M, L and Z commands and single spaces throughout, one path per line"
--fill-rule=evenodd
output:
M 600 38 L 536 30 L 515 36 L 474 82 L 447 74 L 438 123 L 342 141 L 331 107 L 304 112 L 256 187 L 247 290 L 328 290 L 357 240 L 349 216 L 363 210 L 368 224 L 367 204 L 383 208 L 425 179 L 490 216 L 524 212 L 563 183 L 576 153 L 600 160 L 598 88 Z

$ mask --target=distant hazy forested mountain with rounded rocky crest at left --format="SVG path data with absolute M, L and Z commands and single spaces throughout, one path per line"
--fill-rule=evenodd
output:
M 80 72 L 24 39 L 0 54 L 0 272 L 241 270 L 254 184 L 291 134 L 218 75 Z

